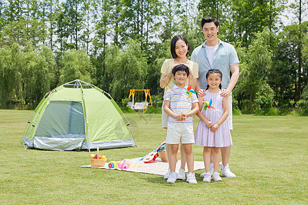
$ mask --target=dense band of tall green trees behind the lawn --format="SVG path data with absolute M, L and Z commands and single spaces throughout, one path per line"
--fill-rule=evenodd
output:
M 307 3 L 292 4 L 288 9 L 298 23 L 283 27 L 279 14 L 286 3 L 0 1 L 1 105 L 10 104 L 14 94 L 26 105 L 38 103 L 51 88 L 75 79 L 101 87 L 117 102 L 133 88 L 159 96 L 160 68 L 171 57 L 171 38 L 183 34 L 192 53 L 205 40 L 201 18 L 214 16 L 220 20 L 218 37 L 236 44 L 240 57 L 235 107 L 244 113 L 284 108 L 290 99 L 295 103 L 308 98 L 303 89 L 308 81 L 308 22 L 299 19 Z M 142 94 L 136 98 L 144 99 Z

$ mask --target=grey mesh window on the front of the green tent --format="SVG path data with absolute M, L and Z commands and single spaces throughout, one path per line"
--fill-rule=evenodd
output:
M 86 138 L 81 102 L 51 101 L 40 119 L 35 136 Z

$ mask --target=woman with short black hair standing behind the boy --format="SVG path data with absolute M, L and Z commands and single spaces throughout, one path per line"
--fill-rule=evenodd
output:
M 162 77 L 160 78 L 159 85 L 160 87 L 164 88 L 164 97 L 168 89 L 175 85 L 175 79 L 172 76 L 172 68 L 179 64 L 185 64 L 190 69 L 190 76 L 189 79 L 186 81 L 186 85 L 192 85 L 193 90 L 199 90 L 197 88 L 197 79 L 198 79 L 198 64 L 193 61 L 187 59 L 188 54 L 190 53 L 190 44 L 188 44 L 188 40 L 182 36 L 177 35 L 172 38 L 170 51 L 172 55 L 172 59 L 166 59 L 164 64 L 162 65 Z M 162 128 L 167 128 L 168 124 L 168 115 L 164 112 L 164 104 L 162 105 Z M 182 150 L 182 148 L 181 148 Z M 166 146 L 167 152 L 167 159 L 168 159 L 168 152 L 169 146 Z M 178 179 L 185 180 L 185 154 L 181 152 L 181 169 L 179 169 Z M 168 179 L 170 174 L 170 169 L 164 176 L 165 179 Z

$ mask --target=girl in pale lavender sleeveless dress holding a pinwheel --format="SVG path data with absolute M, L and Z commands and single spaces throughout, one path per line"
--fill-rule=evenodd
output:
M 218 174 L 218 165 L 220 161 L 220 148 L 232 145 L 231 133 L 228 122 L 226 121 L 229 115 L 228 98 L 220 96 L 222 72 L 217 69 L 210 69 L 206 74 L 207 91 L 205 96 L 199 96 L 200 110 L 197 113 L 200 118 L 194 141 L 196 145 L 203 146 L 203 160 L 205 164 L 205 176 L 203 182 L 221 181 Z M 205 103 L 210 102 L 205 109 Z M 209 107 L 210 106 L 210 107 Z M 214 152 L 214 173 L 211 176 L 209 172 L 211 149 Z

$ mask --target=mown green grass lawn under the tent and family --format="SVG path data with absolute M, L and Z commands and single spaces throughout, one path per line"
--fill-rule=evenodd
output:
M 0 110 L 1 204 L 307 204 L 308 117 L 235 115 L 229 163 L 237 178 L 204 183 L 198 170 L 198 184 L 167 184 L 158 175 L 80 167 L 90 164 L 88 151 L 25 150 L 31 114 Z M 143 156 L 166 137 L 159 114 L 126 116 L 138 148 L 101 150 L 107 161 Z M 202 150 L 193 146 L 196 161 Z

